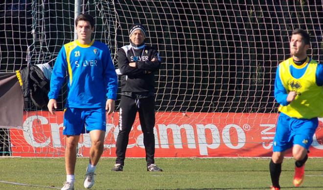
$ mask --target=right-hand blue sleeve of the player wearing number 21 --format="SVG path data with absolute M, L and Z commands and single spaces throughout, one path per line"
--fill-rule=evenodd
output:
M 104 80 L 106 84 L 106 96 L 107 99 L 116 99 L 116 92 L 118 90 L 118 77 L 115 72 L 115 66 L 111 59 L 111 53 L 109 48 L 106 46 L 106 50 L 103 55 L 104 68 Z

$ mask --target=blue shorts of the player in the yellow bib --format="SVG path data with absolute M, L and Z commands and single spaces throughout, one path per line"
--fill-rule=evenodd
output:
M 280 113 L 273 142 L 273 151 L 283 152 L 292 148 L 294 144 L 299 144 L 308 150 L 313 142 L 313 135 L 318 125 L 318 118 L 296 119 Z

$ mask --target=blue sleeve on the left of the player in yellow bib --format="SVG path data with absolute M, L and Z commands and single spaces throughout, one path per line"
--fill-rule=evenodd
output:
M 289 102 L 287 102 L 287 100 L 286 100 L 286 98 L 287 98 L 286 89 L 282 85 L 281 79 L 279 77 L 279 66 L 277 67 L 277 71 L 276 71 L 274 96 L 275 96 L 276 101 L 280 105 L 286 106 L 289 104 Z

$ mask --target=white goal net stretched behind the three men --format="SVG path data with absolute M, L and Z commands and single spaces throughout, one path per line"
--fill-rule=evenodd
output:
M 54 63 L 62 45 L 74 39 L 69 0 L 12 0 L 0 7 L 0 72 Z M 115 67 L 117 49 L 129 44 L 130 25 L 145 25 L 146 44 L 162 59 L 156 73 L 156 155 L 175 157 L 270 155 L 277 64 L 290 56 L 295 28 L 310 33 L 308 54 L 323 60 L 322 7 L 317 0 L 80 0 L 79 8 L 95 18 L 93 37 L 109 45 Z M 59 110 L 65 98 L 63 87 Z M 116 105 L 119 99 L 118 94 Z M 0 131 L 3 152 L 63 156 L 62 114 L 49 115 L 30 102 L 24 107 L 22 128 Z M 104 155 L 114 156 L 117 114 L 107 121 Z M 321 120 L 314 155 L 322 155 L 322 127 Z M 80 155 L 89 143 L 82 136 Z M 129 147 L 131 156 L 144 156 L 138 119 Z

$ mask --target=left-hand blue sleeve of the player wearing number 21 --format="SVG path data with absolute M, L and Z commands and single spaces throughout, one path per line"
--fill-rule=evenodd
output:
M 67 60 L 64 46 L 59 51 L 54 68 L 50 77 L 50 90 L 48 93 L 49 99 L 57 99 L 59 90 L 65 80 L 67 71 Z

